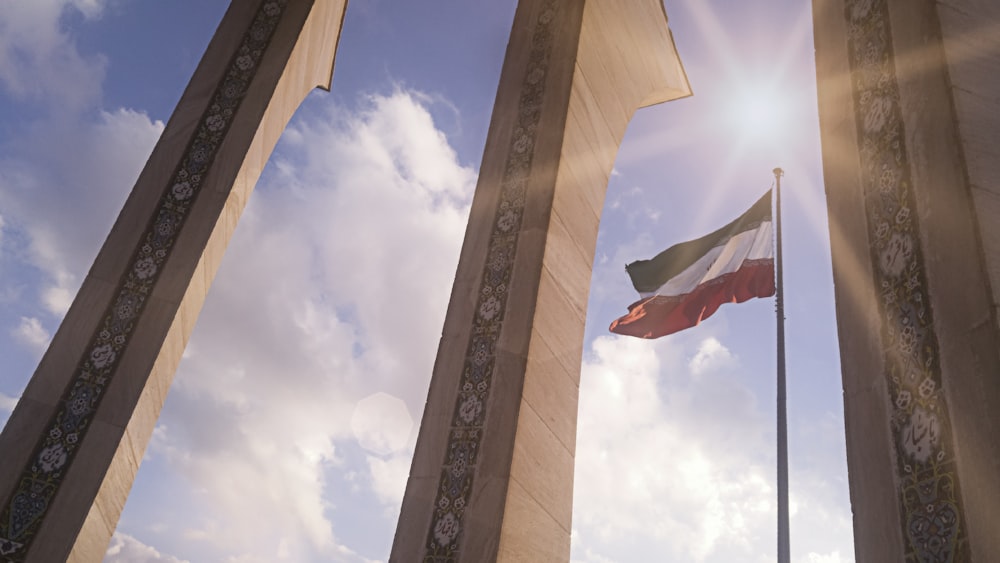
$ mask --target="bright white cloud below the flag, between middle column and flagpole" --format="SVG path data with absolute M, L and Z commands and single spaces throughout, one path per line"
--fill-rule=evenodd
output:
M 601 337 L 584 364 L 575 496 L 581 547 L 593 550 L 591 561 L 611 553 L 755 560 L 746 548 L 756 523 L 774 510 L 769 471 L 756 459 L 763 421 L 752 404 L 738 402 L 722 405 L 732 412 L 728 419 L 689 416 L 704 399 L 695 395 L 710 389 L 691 389 L 682 366 L 664 365 L 657 350 L 666 346 Z M 671 356 L 664 353 L 676 362 Z M 705 426 L 733 434 L 740 447 L 725 451 L 692 439 L 705 435 Z

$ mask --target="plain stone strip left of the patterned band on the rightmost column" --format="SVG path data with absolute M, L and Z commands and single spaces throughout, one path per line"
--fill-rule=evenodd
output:
M 882 376 L 882 322 L 877 290 L 871 282 L 871 245 L 858 167 L 857 110 L 850 83 L 844 11 L 841 0 L 813 1 L 854 545 L 859 563 L 902 561 L 902 522 L 888 424 L 891 401 L 888 382 Z

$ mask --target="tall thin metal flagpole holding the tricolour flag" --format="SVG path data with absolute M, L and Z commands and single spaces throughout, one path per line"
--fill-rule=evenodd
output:
M 788 417 L 785 396 L 785 292 L 781 270 L 781 177 L 774 169 L 775 311 L 778 316 L 778 563 L 791 562 L 788 530 Z

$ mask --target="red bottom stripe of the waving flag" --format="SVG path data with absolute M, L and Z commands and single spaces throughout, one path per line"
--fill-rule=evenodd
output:
M 774 295 L 774 261 L 744 262 L 685 295 L 654 295 L 629 305 L 628 314 L 611 323 L 616 334 L 659 338 L 691 328 L 712 316 L 723 303 L 742 303 Z

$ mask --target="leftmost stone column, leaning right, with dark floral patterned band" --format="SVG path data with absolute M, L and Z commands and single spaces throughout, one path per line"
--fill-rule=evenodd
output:
M 0 560 L 100 561 L 226 243 L 346 0 L 226 12 L 0 435 Z

